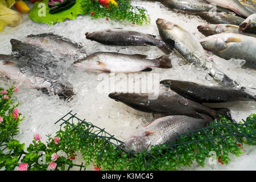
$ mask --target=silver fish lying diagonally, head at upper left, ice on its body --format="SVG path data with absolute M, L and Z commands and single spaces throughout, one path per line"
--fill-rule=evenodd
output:
M 179 53 L 185 61 L 196 67 L 208 71 L 209 75 L 214 78 L 219 84 L 224 86 L 238 87 L 240 86 L 236 81 L 233 81 L 224 73 L 218 71 L 213 63 L 207 60 L 205 51 L 193 35 L 184 30 L 180 26 L 168 22 L 167 20 L 158 18 L 156 20 L 159 35 L 167 44 L 175 41 L 174 51 Z

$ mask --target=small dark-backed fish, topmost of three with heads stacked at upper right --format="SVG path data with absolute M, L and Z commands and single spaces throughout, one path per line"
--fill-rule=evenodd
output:
M 245 19 L 227 13 L 201 12 L 197 13 L 201 18 L 212 24 L 236 24 L 240 25 Z

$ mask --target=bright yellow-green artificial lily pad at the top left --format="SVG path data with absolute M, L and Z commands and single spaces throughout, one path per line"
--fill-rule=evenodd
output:
M 54 14 L 49 13 L 48 0 L 35 2 L 28 16 L 35 22 L 48 24 L 64 22 L 65 19 L 76 19 L 78 15 L 82 14 L 81 1 L 76 0 L 75 5 L 71 8 Z

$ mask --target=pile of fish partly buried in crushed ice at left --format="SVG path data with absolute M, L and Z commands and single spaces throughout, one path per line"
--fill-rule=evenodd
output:
M 11 39 L 12 55 L 0 55 L 0 75 L 17 80 L 28 88 L 71 98 L 73 88 L 58 81 L 56 61 L 76 60 L 85 49 L 72 40 L 54 34 L 28 35 L 23 42 Z M 65 59 L 62 59 L 64 58 Z

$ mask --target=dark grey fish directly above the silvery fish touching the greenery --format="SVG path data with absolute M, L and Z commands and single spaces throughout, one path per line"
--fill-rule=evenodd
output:
M 207 114 L 212 118 L 218 118 L 218 115 L 227 115 L 230 118 L 228 109 L 218 111 L 210 109 L 192 100 L 188 100 L 179 94 L 170 94 L 160 92 L 158 98 L 149 99 L 150 94 L 140 93 L 110 93 L 109 97 L 115 101 L 120 101 L 133 109 L 154 114 L 167 115 L 187 115 L 189 117 L 202 118 L 200 114 Z

